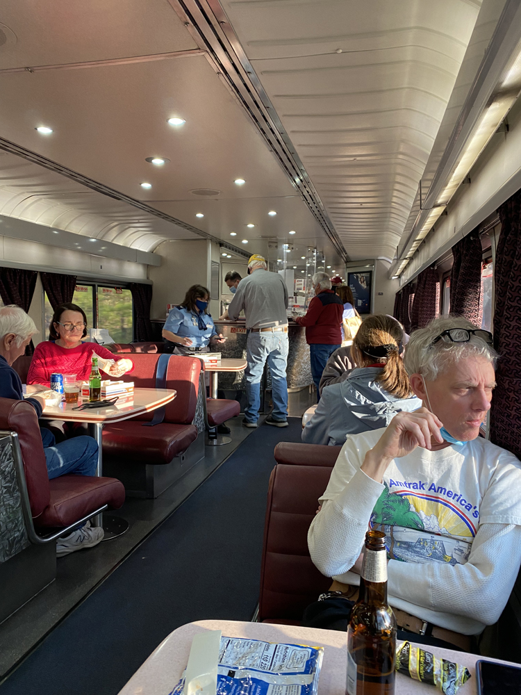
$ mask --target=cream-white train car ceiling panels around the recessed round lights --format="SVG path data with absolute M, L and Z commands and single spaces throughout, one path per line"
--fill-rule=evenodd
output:
M 275 237 L 301 255 L 317 247 L 336 267 L 329 239 L 175 4 L 3 0 L 0 137 L 215 238 L 247 239 L 248 251 L 266 253 Z M 222 1 L 352 259 L 395 254 L 480 5 Z M 169 126 L 172 116 L 185 125 Z M 154 167 L 150 156 L 170 162 Z M 14 154 L 0 156 L 0 213 L 147 251 L 194 236 Z

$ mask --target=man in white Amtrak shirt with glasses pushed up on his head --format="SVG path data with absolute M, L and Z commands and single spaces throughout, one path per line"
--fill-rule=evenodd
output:
M 402 639 L 468 649 L 518 575 L 521 462 L 479 437 L 496 358 L 492 335 L 464 318 L 415 331 L 404 364 L 423 406 L 347 436 L 308 532 L 313 562 L 345 596 L 356 595 L 367 527 L 386 533 Z

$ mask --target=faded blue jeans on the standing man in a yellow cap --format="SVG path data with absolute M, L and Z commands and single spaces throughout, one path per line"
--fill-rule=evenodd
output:
M 286 365 L 288 363 L 288 334 L 283 331 L 250 331 L 246 343 L 246 420 L 256 423 L 258 409 L 261 407 L 261 379 L 264 365 L 270 366 L 272 373 L 272 416 L 275 420 L 288 417 L 288 383 Z

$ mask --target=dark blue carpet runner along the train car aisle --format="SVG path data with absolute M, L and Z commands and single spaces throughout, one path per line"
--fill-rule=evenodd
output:
M 253 432 L 53 630 L 0 694 L 116 695 L 175 628 L 201 619 L 250 620 L 274 446 L 300 441 L 300 418 L 289 422 L 285 430 L 262 425 Z

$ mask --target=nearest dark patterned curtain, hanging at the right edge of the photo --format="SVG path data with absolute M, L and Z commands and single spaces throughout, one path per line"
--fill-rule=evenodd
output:
M 494 344 L 501 359 L 490 414 L 490 439 L 521 457 L 521 192 L 498 210 L 494 266 Z

